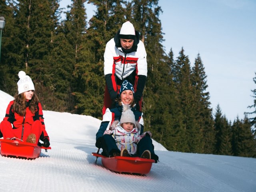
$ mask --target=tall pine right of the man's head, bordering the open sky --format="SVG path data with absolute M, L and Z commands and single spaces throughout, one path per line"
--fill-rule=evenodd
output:
M 134 0 L 132 1 L 131 22 L 140 32 L 140 40 L 144 43 L 148 60 L 148 79 L 154 72 L 155 65 L 165 55 L 162 42 L 162 24 L 159 15 L 162 9 L 158 6 L 158 0 Z M 154 51 L 153 51 L 154 50 Z

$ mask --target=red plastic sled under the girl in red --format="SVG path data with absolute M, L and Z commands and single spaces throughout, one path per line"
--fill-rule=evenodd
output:
M 16 157 L 25 157 L 27 159 L 38 158 L 41 149 L 51 149 L 51 147 L 41 147 L 37 144 L 22 142 L 19 140 L 8 140 L 0 139 L 1 143 L 1 154 L 4 156 L 16 156 Z

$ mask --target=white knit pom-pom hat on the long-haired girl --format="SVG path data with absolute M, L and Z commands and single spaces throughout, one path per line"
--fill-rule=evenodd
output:
M 24 93 L 26 91 L 35 90 L 32 79 L 26 75 L 24 71 L 20 71 L 18 74 L 20 80 L 18 81 L 18 94 Z

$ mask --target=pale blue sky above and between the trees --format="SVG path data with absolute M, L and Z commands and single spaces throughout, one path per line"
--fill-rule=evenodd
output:
M 71 0 L 61 0 L 66 8 Z M 253 104 L 256 72 L 255 0 L 159 0 L 166 53 L 183 47 L 191 66 L 199 53 L 205 67 L 213 112 L 220 104 L 232 122 Z M 85 4 L 88 19 L 94 6 Z

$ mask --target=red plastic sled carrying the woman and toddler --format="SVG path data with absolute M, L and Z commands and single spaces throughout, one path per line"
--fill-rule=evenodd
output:
M 150 172 L 153 159 L 144 159 L 139 157 L 106 157 L 102 154 L 92 153 L 93 156 L 101 157 L 102 165 L 114 172 L 148 174 Z

